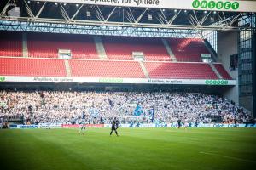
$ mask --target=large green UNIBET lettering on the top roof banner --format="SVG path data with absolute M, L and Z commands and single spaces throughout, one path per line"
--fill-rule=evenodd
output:
M 230 1 L 206 1 L 206 0 L 195 0 L 192 3 L 193 8 L 209 8 L 209 9 L 226 9 L 226 10 L 236 10 L 239 8 L 238 2 L 230 2 Z

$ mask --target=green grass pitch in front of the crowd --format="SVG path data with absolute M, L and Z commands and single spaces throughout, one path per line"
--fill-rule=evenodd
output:
M 0 130 L 6 169 L 247 169 L 256 166 L 253 128 Z

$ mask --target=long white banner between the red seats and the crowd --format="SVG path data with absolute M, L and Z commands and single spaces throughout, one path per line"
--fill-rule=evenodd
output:
M 0 76 L 0 82 L 79 82 L 114 84 L 190 84 L 190 85 L 236 85 L 236 80 L 202 79 L 150 79 L 150 78 L 105 78 L 105 77 L 13 77 Z

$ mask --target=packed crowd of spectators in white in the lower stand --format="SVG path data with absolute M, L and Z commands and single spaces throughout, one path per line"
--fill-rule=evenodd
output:
M 162 92 L 0 91 L 0 122 L 33 123 L 247 122 L 250 116 L 228 99 L 209 94 Z M 135 109 L 141 112 L 135 116 Z

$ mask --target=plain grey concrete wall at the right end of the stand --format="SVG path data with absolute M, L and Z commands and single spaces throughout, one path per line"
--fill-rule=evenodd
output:
M 238 70 L 230 71 L 230 55 L 238 53 L 238 32 L 237 31 L 218 31 L 218 62 L 221 62 L 226 71 L 234 79 L 238 79 Z M 239 105 L 238 84 L 234 87 L 226 88 L 224 97 L 233 100 Z

